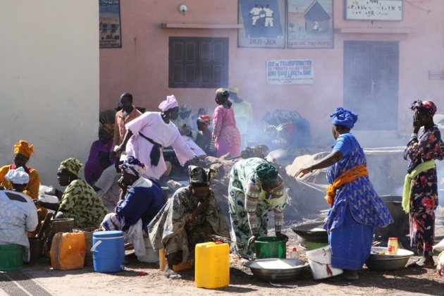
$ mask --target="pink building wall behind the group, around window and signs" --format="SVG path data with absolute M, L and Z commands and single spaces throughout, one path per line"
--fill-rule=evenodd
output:
M 193 113 L 206 107 L 212 112 L 214 89 L 168 87 L 168 37 L 228 37 L 229 85 L 252 102 L 259 123 L 266 111 L 295 109 L 312 124 L 314 138 L 330 132 L 329 114 L 343 104 L 343 44 L 347 40 L 399 42 L 398 130 L 410 118 L 409 104 L 429 97 L 444 113 L 444 80 L 429 80 L 429 70 L 444 70 L 444 1 L 404 1 L 402 21 L 344 20 L 344 1 L 334 1 L 333 49 L 238 48 L 236 29 L 171 29 L 162 23 L 236 24 L 237 0 L 188 0 L 189 11 L 178 11 L 180 1 L 121 1 L 123 47 L 100 49 L 100 109 L 115 107 L 123 92 L 131 92 L 136 106 L 157 111 L 168 94 L 181 104 L 191 104 Z M 414 4 L 414 6 L 412 5 Z M 415 7 L 417 6 L 417 7 Z M 431 11 L 430 13 L 419 8 Z M 363 33 L 381 28 L 381 33 Z M 407 33 L 395 33 L 406 29 Z M 314 61 L 314 84 L 267 85 L 266 60 L 310 58 Z

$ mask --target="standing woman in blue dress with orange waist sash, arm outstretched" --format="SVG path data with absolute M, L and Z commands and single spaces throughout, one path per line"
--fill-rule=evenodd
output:
M 331 265 L 344 269 L 347 280 L 357 280 L 357 271 L 370 255 L 375 226 L 387 226 L 393 218 L 371 185 L 364 151 L 350 133 L 357 115 L 338 107 L 331 117 L 336 140 L 333 151 L 302 168 L 296 176 L 327 168 L 330 185 L 326 199 L 331 208 L 324 228 L 331 247 Z

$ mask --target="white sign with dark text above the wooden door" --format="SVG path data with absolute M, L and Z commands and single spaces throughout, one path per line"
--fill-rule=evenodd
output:
M 402 0 L 344 0 L 346 20 L 402 20 Z

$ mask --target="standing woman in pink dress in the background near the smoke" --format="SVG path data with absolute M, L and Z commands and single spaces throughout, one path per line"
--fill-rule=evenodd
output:
M 228 100 L 228 90 L 219 88 L 216 90 L 216 104 L 219 106 L 213 113 L 213 141 L 216 157 L 221 157 L 230 152 L 231 157 L 240 156 L 240 132 L 236 127 L 231 101 Z

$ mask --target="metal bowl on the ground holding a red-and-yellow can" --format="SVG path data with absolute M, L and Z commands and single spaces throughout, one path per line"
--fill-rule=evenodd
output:
M 388 255 L 380 254 L 387 252 L 386 247 L 372 247 L 369 259 L 365 265 L 372 271 L 397 271 L 404 269 L 409 258 L 413 256 L 413 252 L 407 249 L 397 249 L 397 254 Z

